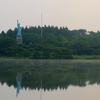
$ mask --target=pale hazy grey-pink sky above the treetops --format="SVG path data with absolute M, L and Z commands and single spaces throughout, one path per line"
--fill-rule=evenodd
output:
M 69 30 L 100 30 L 100 0 L 0 0 L 0 32 L 21 26 L 67 26 Z

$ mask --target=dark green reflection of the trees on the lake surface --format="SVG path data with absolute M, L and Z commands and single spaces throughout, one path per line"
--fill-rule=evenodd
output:
M 0 82 L 17 88 L 17 95 L 21 88 L 40 90 L 41 75 L 45 91 L 100 84 L 99 72 L 99 60 L 0 60 Z

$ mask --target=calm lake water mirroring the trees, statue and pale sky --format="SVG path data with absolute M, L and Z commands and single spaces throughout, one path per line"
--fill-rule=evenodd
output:
M 0 60 L 0 100 L 100 100 L 100 60 Z

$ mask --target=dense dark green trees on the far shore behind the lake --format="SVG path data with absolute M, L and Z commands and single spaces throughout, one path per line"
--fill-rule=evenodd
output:
M 35 59 L 68 59 L 72 55 L 100 55 L 100 32 L 67 27 L 23 27 L 23 44 L 16 41 L 17 28 L 0 34 L 0 55 Z

